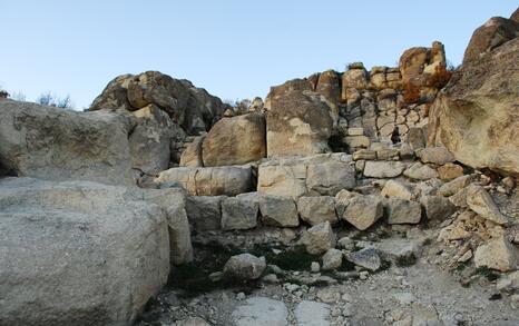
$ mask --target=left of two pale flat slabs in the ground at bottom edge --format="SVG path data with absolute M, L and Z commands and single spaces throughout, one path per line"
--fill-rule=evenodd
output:
M 283 302 L 265 297 L 248 298 L 245 305 L 238 306 L 233 312 L 233 318 L 237 326 L 285 326 L 288 325 L 287 317 L 288 309 Z

